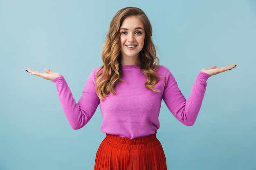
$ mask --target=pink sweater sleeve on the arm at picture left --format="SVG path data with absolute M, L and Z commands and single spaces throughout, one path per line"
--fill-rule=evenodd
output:
M 95 92 L 94 82 L 96 73 L 93 71 L 88 77 L 79 102 L 76 103 L 70 88 L 64 77 L 57 77 L 52 80 L 56 84 L 58 97 L 63 111 L 67 117 L 70 126 L 73 129 L 80 129 L 92 118 L 99 105 L 99 97 Z

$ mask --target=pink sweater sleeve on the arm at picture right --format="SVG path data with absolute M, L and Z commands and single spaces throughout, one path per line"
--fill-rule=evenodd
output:
M 191 94 L 186 100 L 178 88 L 175 78 L 166 68 L 163 99 L 171 113 L 176 119 L 182 122 L 182 124 L 192 126 L 195 123 L 206 91 L 206 81 L 209 77 L 211 76 L 200 71 L 193 83 Z

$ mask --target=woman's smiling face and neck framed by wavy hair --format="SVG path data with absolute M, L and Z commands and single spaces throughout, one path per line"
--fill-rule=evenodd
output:
M 136 16 L 127 17 L 119 31 L 121 64 L 137 64 L 139 52 L 143 48 L 145 40 L 143 22 Z

